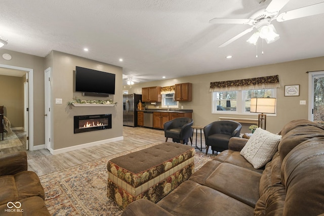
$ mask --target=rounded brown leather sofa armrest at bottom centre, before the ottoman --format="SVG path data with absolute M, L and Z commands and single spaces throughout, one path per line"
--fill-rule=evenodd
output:
M 147 199 L 139 199 L 129 204 L 121 216 L 138 216 L 138 215 L 154 215 L 154 216 L 172 216 L 160 206 L 154 204 Z

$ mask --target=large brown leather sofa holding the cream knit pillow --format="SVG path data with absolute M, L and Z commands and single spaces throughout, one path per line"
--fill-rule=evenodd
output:
M 324 213 L 324 127 L 295 120 L 281 129 L 278 151 L 255 169 L 231 138 L 229 150 L 207 162 L 156 204 L 141 199 L 123 215 L 318 215 Z

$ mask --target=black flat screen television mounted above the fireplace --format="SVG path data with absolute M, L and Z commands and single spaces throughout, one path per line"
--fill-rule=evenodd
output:
M 75 91 L 115 94 L 115 74 L 75 67 Z

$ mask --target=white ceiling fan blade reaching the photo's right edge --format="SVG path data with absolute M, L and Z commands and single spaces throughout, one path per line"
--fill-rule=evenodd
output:
M 283 22 L 287 20 L 312 16 L 312 15 L 322 14 L 322 13 L 324 13 L 324 2 L 283 12 L 279 14 L 276 19 L 278 22 Z

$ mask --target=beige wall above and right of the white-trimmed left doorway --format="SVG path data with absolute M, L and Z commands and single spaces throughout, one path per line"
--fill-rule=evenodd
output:
M 12 56 L 10 61 L 2 58 L 4 53 Z M 0 49 L 0 64 L 33 69 L 34 89 L 34 146 L 43 145 L 44 136 L 44 58 Z

